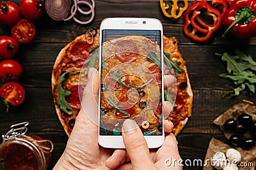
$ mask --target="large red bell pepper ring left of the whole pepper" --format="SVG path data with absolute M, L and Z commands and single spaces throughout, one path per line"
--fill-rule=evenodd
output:
M 199 23 L 197 24 L 195 22 L 195 18 L 198 17 L 200 10 L 203 8 L 207 10 L 208 15 L 214 20 L 214 23 L 210 26 L 207 25 L 207 27 L 204 27 L 202 24 L 200 24 L 202 26 L 200 27 L 200 25 L 198 25 Z M 191 11 L 193 11 L 193 15 L 189 19 L 189 14 Z M 205 0 L 198 1 L 197 3 L 194 1 L 194 4 L 186 11 L 185 21 L 186 23 L 183 27 L 184 34 L 195 41 L 205 41 L 211 37 L 213 31 L 220 27 L 221 13 L 215 8 L 212 8 L 212 6 L 206 3 Z M 189 25 L 193 27 L 192 31 L 189 31 Z M 201 32 L 204 34 L 204 36 L 198 36 L 196 35 L 196 32 Z

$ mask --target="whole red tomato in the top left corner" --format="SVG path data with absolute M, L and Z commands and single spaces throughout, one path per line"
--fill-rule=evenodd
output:
M 0 22 L 6 25 L 14 25 L 20 19 L 20 8 L 12 2 L 3 2 L 0 4 Z

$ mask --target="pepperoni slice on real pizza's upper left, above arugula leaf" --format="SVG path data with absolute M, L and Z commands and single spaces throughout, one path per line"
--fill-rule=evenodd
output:
M 86 41 L 77 41 L 70 50 L 70 58 L 82 66 L 90 55 L 90 48 L 92 48 L 92 45 L 88 44 Z

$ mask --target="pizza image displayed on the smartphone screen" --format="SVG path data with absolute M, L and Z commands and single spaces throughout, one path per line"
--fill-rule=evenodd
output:
M 144 36 L 124 36 L 104 42 L 102 56 L 100 134 L 120 135 L 131 118 L 143 134 L 161 135 L 159 45 Z

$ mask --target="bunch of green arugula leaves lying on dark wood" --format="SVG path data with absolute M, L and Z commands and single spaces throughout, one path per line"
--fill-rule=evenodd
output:
M 227 62 L 227 73 L 222 73 L 220 76 L 234 81 L 237 86 L 224 96 L 239 96 L 246 87 L 250 91 L 250 95 L 255 94 L 256 62 L 252 55 L 246 55 L 240 50 L 236 50 L 236 55 L 229 55 L 228 53 L 216 53 L 216 55 L 222 56 L 221 60 Z

